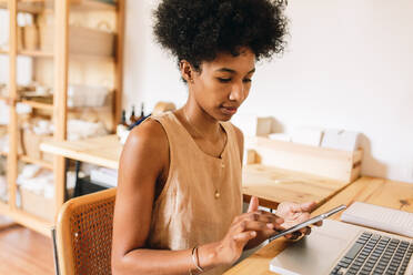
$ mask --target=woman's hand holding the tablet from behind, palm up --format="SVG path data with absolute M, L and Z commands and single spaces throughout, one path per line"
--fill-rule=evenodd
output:
M 284 223 L 281 224 L 281 226 L 284 228 L 290 228 L 299 223 L 309 220 L 310 213 L 315 208 L 315 202 L 302 204 L 283 202 L 279 204 L 279 207 L 276 208 L 276 215 L 284 220 Z M 319 222 L 315 225 L 321 226 L 322 222 Z M 309 235 L 310 233 L 311 227 L 308 226 L 292 234 L 288 234 L 285 235 L 285 237 L 289 240 L 298 240 L 299 237 Z

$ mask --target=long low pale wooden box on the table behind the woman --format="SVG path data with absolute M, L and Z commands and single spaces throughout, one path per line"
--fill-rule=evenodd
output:
M 342 182 L 353 182 L 360 176 L 363 151 L 344 151 L 306 144 L 270 140 L 268 138 L 248 138 L 249 160 L 269 166 L 296 171 Z M 248 164 L 252 164 L 251 161 Z

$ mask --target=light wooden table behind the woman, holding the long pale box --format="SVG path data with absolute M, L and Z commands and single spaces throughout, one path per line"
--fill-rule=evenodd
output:
M 105 135 L 81 141 L 50 141 L 42 143 L 41 150 L 75 161 L 118 169 L 122 144 L 117 135 Z M 276 208 L 283 201 L 316 201 L 321 205 L 347 185 L 346 182 L 262 164 L 245 165 L 242 184 L 245 202 L 254 195 L 260 198 L 261 206 L 269 208 Z

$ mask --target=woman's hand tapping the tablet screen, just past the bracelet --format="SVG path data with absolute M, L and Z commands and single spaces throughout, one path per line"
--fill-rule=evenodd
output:
M 235 263 L 248 243 L 252 243 L 252 247 L 256 246 L 283 230 L 281 226 L 283 218 L 270 212 L 259 211 L 258 205 L 258 198 L 252 197 L 248 213 L 236 216 L 224 238 L 216 243 L 215 256 L 220 264 Z

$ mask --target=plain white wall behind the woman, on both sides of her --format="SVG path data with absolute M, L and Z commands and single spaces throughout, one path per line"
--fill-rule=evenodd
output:
M 128 1 L 124 105 L 184 103 L 175 61 L 153 42 L 158 1 Z M 242 112 L 363 133 L 362 173 L 413 183 L 413 2 L 289 1 L 282 59 L 260 62 Z

